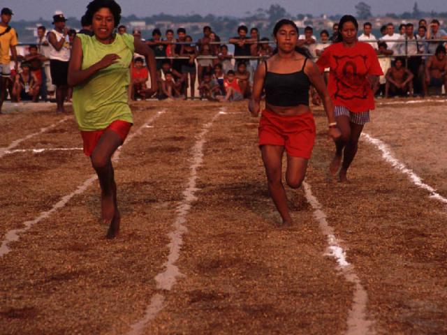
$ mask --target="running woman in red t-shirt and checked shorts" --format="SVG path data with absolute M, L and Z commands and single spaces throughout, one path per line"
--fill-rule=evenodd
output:
M 316 62 L 321 73 L 330 68 L 328 91 L 335 106 L 337 126 L 342 131 L 342 137 L 335 140 L 330 172 L 333 175 L 339 172 L 340 181 L 347 181 L 358 139 L 369 122 L 369 110 L 374 110 L 372 87 L 379 75 L 383 75 L 376 52 L 368 43 L 358 42 L 357 33 L 356 18 L 344 15 L 339 22 L 337 43 L 327 47 Z

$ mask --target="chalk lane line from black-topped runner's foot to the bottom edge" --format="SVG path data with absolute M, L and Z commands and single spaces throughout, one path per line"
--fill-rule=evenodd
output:
M 354 271 L 353 265 L 351 265 L 346 260 L 346 253 L 340 246 L 337 237 L 335 237 L 334 228 L 332 228 L 328 223 L 328 217 L 323 211 L 323 206 L 318 202 L 315 196 L 312 194 L 312 189 L 309 184 L 303 182 L 305 196 L 307 202 L 314 209 L 314 218 L 318 221 L 321 232 L 328 239 L 328 253 L 326 255 L 335 258 L 339 265 L 339 269 L 346 281 L 353 283 L 353 304 L 349 310 L 348 315 L 348 329 L 346 330 L 346 335 L 372 335 L 376 334 L 374 331 L 374 322 L 367 319 L 367 301 L 368 295 L 363 288 L 360 278 L 358 278 L 356 272 Z

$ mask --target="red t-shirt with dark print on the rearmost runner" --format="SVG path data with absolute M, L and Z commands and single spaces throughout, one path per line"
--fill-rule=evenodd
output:
M 374 92 L 367 76 L 383 75 L 383 72 L 371 45 L 332 44 L 325 48 L 316 65 L 321 73 L 330 68 L 328 91 L 334 105 L 344 106 L 351 112 L 374 110 Z

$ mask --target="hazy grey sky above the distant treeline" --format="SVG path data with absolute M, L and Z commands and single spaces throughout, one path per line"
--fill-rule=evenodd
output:
M 271 3 L 278 3 L 288 13 L 353 14 L 354 6 L 362 0 L 118 0 L 123 14 L 150 16 L 157 13 L 241 16 L 257 8 L 268 8 Z M 372 7 L 373 14 L 411 12 L 415 0 L 363 0 Z M 0 6 L 8 6 L 14 12 L 14 20 L 51 18 L 54 10 L 62 10 L 66 16 L 80 17 L 85 12 L 89 1 L 85 0 L 15 0 L 0 1 Z M 446 0 L 420 0 L 420 10 L 446 11 Z

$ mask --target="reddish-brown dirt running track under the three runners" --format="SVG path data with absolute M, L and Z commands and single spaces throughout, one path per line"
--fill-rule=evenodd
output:
M 446 205 L 365 141 L 351 183 L 337 183 L 327 174 L 333 149 L 327 122 L 315 111 L 318 137 L 307 183 L 367 293 L 366 320 L 353 326 L 348 320 L 355 287 L 328 257 L 327 238 L 305 192 L 288 190 L 296 225 L 277 228 L 257 121 L 245 103 L 223 107 L 133 105 L 132 132 L 138 133 L 115 162 L 122 232 L 114 241 L 104 238 L 107 227 L 98 221 L 97 181 L 72 194 L 93 174 L 77 149 L 73 117 L 59 122 L 63 117 L 47 107 L 0 117 L 0 147 L 36 133 L 14 149 L 72 149 L 3 149 L 1 241 L 73 195 L 20 232 L 0 256 L 0 334 L 447 334 Z M 445 107 L 383 104 L 366 127 L 444 197 L 440 162 L 446 154 L 437 146 L 447 138 L 436 127 L 444 122 Z M 411 119 L 424 108 L 437 111 L 434 119 L 402 127 L 399 118 Z M 203 152 L 197 152 L 207 126 Z M 424 129 L 430 136 L 423 137 Z M 432 148 L 442 155 L 439 163 Z M 418 159 L 421 152 L 427 165 Z M 195 198 L 184 212 L 187 231 L 172 235 L 194 158 L 203 162 L 193 179 Z M 155 278 L 173 256 L 173 237 L 182 243 L 175 262 L 182 276 L 171 290 L 161 290 Z M 162 297 L 160 311 L 151 309 L 154 297 Z M 152 314 L 145 319 L 148 307 Z M 365 321 L 372 327 L 362 328 Z

